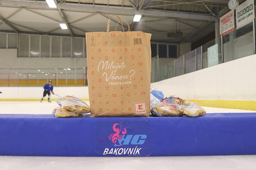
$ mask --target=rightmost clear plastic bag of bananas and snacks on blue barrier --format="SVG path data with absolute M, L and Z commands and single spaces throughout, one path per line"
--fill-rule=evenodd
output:
M 165 102 L 176 102 L 180 105 L 181 111 L 184 115 L 189 117 L 204 116 L 206 111 L 203 107 L 198 104 L 179 98 L 178 96 L 172 95 L 164 100 Z

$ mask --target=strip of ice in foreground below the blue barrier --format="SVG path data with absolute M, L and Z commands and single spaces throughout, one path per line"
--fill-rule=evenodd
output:
M 172 157 L 0 156 L 3 170 L 245 170 L 256 169 L 256 155 Z

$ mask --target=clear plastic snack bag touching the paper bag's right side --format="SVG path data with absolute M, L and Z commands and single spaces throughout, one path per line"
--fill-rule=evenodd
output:
M 182 111 L 180 111 L 180 106 L 176 102 L 165 102 L 160 101 L 153 104 L 151 107 L 151 113 L 153 116 L 167 116 L 167 117 L 181 117 L 183 116 Z

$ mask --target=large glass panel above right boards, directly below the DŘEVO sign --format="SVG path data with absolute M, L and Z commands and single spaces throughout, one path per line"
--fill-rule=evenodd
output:
M 223 36 L 222 42 L 224 62 L 253 55 L 253 22 Z

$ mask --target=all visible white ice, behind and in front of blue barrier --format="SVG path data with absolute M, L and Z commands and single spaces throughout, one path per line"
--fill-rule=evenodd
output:
M 86 103 L 89 104 L 88 101 Z M 51 114 L 58 107 L 52 101 L 1 101 L 0 114 Z M 252 110 L 204 107 L 207 113 L 248 113 Z M 87 118 L 86 118 L 87 119 Z M 229 156 L 173 156 L 173 157 L 36 157 L 0 156 L 0 169 L 190 169 L 190 170 L 244 170 L 256 169 L 256 155 Z

